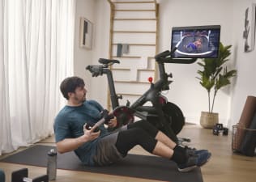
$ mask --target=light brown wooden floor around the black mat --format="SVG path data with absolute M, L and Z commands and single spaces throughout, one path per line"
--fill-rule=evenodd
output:
M 182 129 L 179 137 L 189 137 L 191 142 L 188 146 L 194 146 L 198 149 L 211 150 L 211 160 L 201 168 L 204 182 L 254 182 L 256 181 L 256 157 L 245 157 L 233 154 L 231 150 L 231 133 L 227 136 L 212 135 L 211 129 L 202 129 L 198 125 L 186 125 Z M 54 145 L 53 138 L 42 141 L 40 144 Z M 147 154 L 139 146 L 135 147 L 131 153 Z M 5 157 L 0 156 L 0 159 Z M 31 167 L 23 165 L 14 165 L 9 163 L 0 163 L 6 173 L 6 182 L 11 181 L 11 171 L 22 167 L 28 167 L 29 176 L 41 176 L 46 173 L 45 167 Z M 129 171 L 127 171 L 129 172 Z M 110 176 L 81 171 L 58 170 L 57 180 L 60 182 L 148 182 L 156 180 L 142 180 L 137 178 Z M 188 180 L 189 181 L 189 180 Z M 175 181 L 174 181 L 175 182 Z

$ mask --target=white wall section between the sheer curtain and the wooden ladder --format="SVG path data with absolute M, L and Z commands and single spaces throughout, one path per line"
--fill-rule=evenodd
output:
M 79 19 L 84 17 L 93 23 L 92 49 L 79 47 Z M 109 57 L 109 2 L 105 0 L 77 0 L 75 18 L 75 75 L 84 79 L 87 99 L 96 99 L 107 106 L 107 79 L 92 78 L 88 65 L 97 65 L 100 57 Z

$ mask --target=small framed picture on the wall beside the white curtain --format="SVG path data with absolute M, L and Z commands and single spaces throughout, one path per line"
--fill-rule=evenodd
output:
M 93 24 L 88 19 L 80 18 L 80 47 L 92 49 Z

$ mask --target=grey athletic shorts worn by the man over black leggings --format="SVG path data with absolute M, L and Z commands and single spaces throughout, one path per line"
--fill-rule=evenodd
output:
M 114 133 L 111 133 L 104 138 L 100 138 L 100 141 L 97 144 L 96 154 L 93 156 L 93 161 L 96 166 L 110 165 L 125 157 L 117 150 L 116 142 L 119 131 L 126 129 L 127 125 L 122 126 L 122 128 Z

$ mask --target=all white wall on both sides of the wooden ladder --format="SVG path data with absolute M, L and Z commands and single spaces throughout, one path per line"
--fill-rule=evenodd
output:
M 221 25 L 220 40 L 224 44 L 233 44 L 233 55 L 230 66 L 238 70 L 233 85 L 221 90 L 215 100 L 214 112 L 219 112 L 220 122 L 224 125 L 235 124 L 247 95 L 256 95 L 255 50 L 243 53 L 242 32 L 244 28 L 245 7 L 255 0 L 159 0 L 160 2 L 160 35 L 159 52 L 169 49 L 170 31 L 176 26 Z M 94 9 L 92 9 L 94 7 Z M 79 0 L 78 16 L 85 15 L 94 23 L 92 51 L 75 50 L 75 73 L 86 78 L 89 86 L 89 97 L 97 99 L 106 107 L 107 79 L 92 78 L 85 74 L 87 64 L 97 64 L 100 57 L 109 57 L 109 3 L 105 0 Z M 77 33 L 79 35 L 79 33 Z M 77 43 L 78 44 L 78 43 Z M 201 111 L 207 111 L 207 91 L 198 83 L 196 72 L 199 66 L 168 65 L 167 71 L 173 73 L 173 83 L 167 97 L 180 106 L 186 121 L 199 123 Z M 145 88 L 147 89 L 147 88 Z

